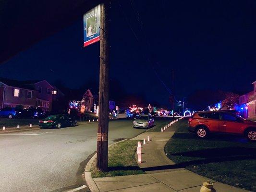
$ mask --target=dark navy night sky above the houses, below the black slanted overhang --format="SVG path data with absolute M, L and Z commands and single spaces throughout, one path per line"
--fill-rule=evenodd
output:
M 168 103 L 169 93 L 153 66 L 170 88 L 174 69 L 178 97 L 197 89 L 253 89 L 254 0 L 134 0 L 143 31 L 130 1 L 120 3 L 122 8 L 113 2 L 110 9 L 110 77 L 119 80 L 128 93 Z M 76 88 L 90 79 L 98 81 L 98 56 L 99 43 L 83 48 L 81 15 L 73 25 L 1 64 L 0 76 L 49 82 L 61 79 Z

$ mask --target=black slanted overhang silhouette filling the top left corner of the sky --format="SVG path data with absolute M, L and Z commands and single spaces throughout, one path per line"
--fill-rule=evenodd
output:
M 0 1 L 0 63 L 72 24 L 102 0 Z

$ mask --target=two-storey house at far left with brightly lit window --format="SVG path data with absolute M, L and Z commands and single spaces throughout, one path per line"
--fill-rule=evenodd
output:
M 16 107 L 42 108 L 51 111 L 54 87 L 46 80 L 16 81 L 0 79 L 0 108 Z

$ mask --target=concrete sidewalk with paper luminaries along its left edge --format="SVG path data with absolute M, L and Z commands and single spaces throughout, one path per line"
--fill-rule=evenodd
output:
M 133 140 L 143 140 L 150 136 L 150 141 L 142 145 L 142 163 L 138 163 L 146 174 L 120 177 L 94 178 L 92 192 L 200 192 L 208 178 L 197 175 L 185 168 L 176 168 L 164 153 L 164 146 L 174 134 L 169 127 L 165 132 L 145 132 Z M 135 154 L 137 160 L 137 155 Z M 137 160 L 138 162 L 138 160 Z M 217 192 L 248 192 L 215 182 Z M 89 185 L 90 187 L 90 185 Z

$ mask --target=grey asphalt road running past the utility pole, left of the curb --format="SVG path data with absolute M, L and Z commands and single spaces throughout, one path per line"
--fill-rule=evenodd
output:
M 132 120 L 110 121 L 109 144 L 144 131 L 134 129 Z M 96 122 L 0 134 L 0 192 L 61 192 L 83 185 L 79 175 L 96 139 Z

